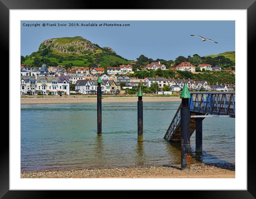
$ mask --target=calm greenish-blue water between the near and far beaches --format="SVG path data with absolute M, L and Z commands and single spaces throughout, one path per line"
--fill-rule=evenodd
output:
M 163 136 L 180 102 L 144 102 L 143 143 L 137 142 L 137 103 L 21 104 L 21 170 L 180 164 L 179 143 Z M 192 163 L 235 162 L 235 119 L 203 120 L 203 154 Z

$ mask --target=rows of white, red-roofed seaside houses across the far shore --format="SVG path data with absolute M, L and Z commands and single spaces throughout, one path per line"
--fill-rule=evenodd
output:
M 20 68 L 20 95 L 90 95 L 97 93 L 97 79 L 102 80 L 102 94 L 123 95 L 136 94 L 137 88 L 143 86 L 144 93 L 156 95 L 179 95 L 184 83 L 189 91 L 221 91 L 230 92 L 235 90 L 235 83 L 210 83 L 204 79 L 176 78 L 174 77 L 138 77 L 134 73 L 134 65 L 119 65 L 107 67 L 107 71 L 100 65 L 92 67 L 72 67 L 66 69 L 62 65 L 41 67 L 30 67 L 21 64 Z M 207 63 L 199 64 L 197 67 L 190 62 L 181 62 L 177 66 L 174 63 L 167 68 L 160 61 L 151 62 L 136 72 L 143 71 L 187 71 L 188 73 L 205 73 L 214 71 L 225 71 L 235 75 L 235 70 L 223 70 L 221 67 L 212 66 Z M 199 68 L 200 72 L 196 72 Z M 235 66 L 232 66 L 235 68 Z M 134 75 L 135 74 L 135 75 Z M 141 85 L 142 84 L 142 85 Z

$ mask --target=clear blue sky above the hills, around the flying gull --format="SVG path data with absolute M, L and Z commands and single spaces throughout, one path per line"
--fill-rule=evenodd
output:
M 41 24 L 26 27 L 23 24 Z M 66 23 L 67 27 L 43 27 L 43 23 Z M 69 23 L 118 23 L 129 27 L 69 27 Z M 202 42 L 201 35 L 217 41 Z M 235 51 L 235 21 L 21 21 L 21 55 L 38 50 L 43 40 L 56 37 L 82 36 L 100 47 L 111 47 L 118 55 L 136 60 L 141 54 L 148 58 L 175 60 L 187 57 Z

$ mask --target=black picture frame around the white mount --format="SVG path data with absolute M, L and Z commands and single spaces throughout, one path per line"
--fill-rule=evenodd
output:
M 120 1 L 79 1 L 79 0 L 44 0 L 44 1 L 31 1 L 31 0 L 0 0 L 0 40 L 3 57 L 9 57 L 9 10 L 10 9 L 246 9 L 247 10 L 247 52 L 253 52 L 253 45 L 256 36 L 256 2 L 255 0 L 179 0 L 179 1 L 166 1 L 166 0 L 132 0 L 121 6 Z M 255 51 L 255 50 L 254 50 Z M 8 60 L 8 59 L 6 59 Z M 248 56 L 247 64 L 253 65 L 253 56 Z M 7 62 L 9 66 L 9 62 Z M 246 83 L 244 81 L 243 83 Z M 248 87 L 250 87 L 248 85 Z M 246 93 L 247 95 L 247 93 Z M 249 101 L 248 101 L 249 102 Z M 11 106 L 11 104 L 9 104 Z M 247 108 L 247 107 L 246 107 Z M 245 116 L 247 117 L 247 116 Z M 11 119 L 11 118 L 10 118 Z M 202 191 L 183 191 L 182 198 L 256 198 L 256 161 L 253 154 L 253 134 L 247 133 L 247 124 L 243 124 L 247 134 L 247 190 L 202 190 Z M 2 142 L 0 144 L 0 198 L 51 198 L 54 193 L 58 194 L 58 198 L 69 197 L 69 194 L 59 191 L 10 191 L 9 190 L 9 135 L 2 131 Z M 239 138 L 237 138 L 239 139 Z M 210 185 L 209 185 L 210 186 Z M 100 187 L 99 187 L 100 189 Z M 113 187 L 114 189 L 114 187 Z M 125 189 L 125 187 L 124 187 Z M 200 189 L 200 187 L 198 187 Z M 181 191 L 177 191 L 181 192 Z M 173 193 L 173 192 L 172 192 Z M 106 193 L 104 193 L 105 195 Z M 63 195 L 63 196 L 61 196 Z M 119 195 L 115 193 L 114 195 Z M 121 196 L 121 195 L 119 195 Z M 165 195 L 166 196 L 166 195 Z M 167 195 L 171 197 L 171 193 Z M 72 192 L 72 198 L 74 198 Z M 122 196 L 123 197 L 123 196 Z M 128 193 L 126 197 L 134 197 L 133 193 Z

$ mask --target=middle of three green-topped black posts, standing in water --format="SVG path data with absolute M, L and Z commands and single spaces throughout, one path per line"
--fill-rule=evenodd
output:
M 138 142 L 143 142 L 143 101 L 142 90 L 139 88 L 138 92 Z

